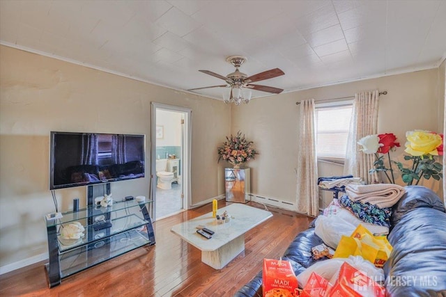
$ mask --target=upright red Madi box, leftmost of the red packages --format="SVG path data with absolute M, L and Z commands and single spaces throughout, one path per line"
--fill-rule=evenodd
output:
M 284 260 L 263 259 L 263 297 L 299 296 L 298 279 L 291 263 Z

